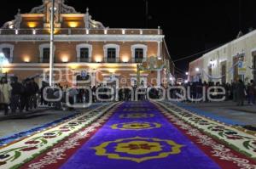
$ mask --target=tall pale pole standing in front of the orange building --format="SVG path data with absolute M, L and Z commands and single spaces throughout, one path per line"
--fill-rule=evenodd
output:
M 49 44 L 49 86 L 53 86 L 54 76 L 54 41 L 55 41 L 55 0 L 50 10 L 50 44 Z

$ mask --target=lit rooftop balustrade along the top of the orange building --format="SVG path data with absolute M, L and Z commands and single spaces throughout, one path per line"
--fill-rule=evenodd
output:
M 0 35 L 49 35 L 49 29 L 0 29 Z M 160 29 L 55 28 L 55 35 L 162 35 Z

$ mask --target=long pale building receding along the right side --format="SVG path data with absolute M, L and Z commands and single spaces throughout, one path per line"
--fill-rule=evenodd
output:
M 256 31 L 216 48 L 189 63 L 189 81 L 256 80 Z

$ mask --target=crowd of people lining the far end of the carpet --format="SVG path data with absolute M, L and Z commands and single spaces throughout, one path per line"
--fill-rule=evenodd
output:
M 169 87 L 172 86 L 177 85 L 169 85 Z M 247 85 L 241 80 L 224 84 L 220 84 L 219 82 L 201 82 L 200 80 L 199 82 L 179 84 L 179 86 L 183 86 L 185 89 L 189 88 L 189 94 L 186 93 L 187 97 L 185 99 L 185 101 L 188 102 L 194 102 L 193 100 L 196 100 L 195 103 L 202 101 L 210 102 L 211 100 L 207 98 L 201 98 L 203 94 L 207 94 L 203 93 L 203 90 L 207 92 L 209 87 L 213 87 L 213 98 L 218 99 L 225 96 L 225 100 L 233 100 L 237 105 L 244 105 L 244 102 L 247 99 L 248 104 L 255 104 L 256 83 L 253 80 Z M 17 110 L 23 112 L 24 110 L 29 111 L 37 109 L 38 104 L 55 107 L 55 109 L 65 108 L 73 110 L 73 106 L 67 106 L 67 102 L 69 103 L 68 105 L 73 105 L 75 103 L 84 104 L 89 102 L 102 102 L 102 100 L 109 100 L 111 98 L 119 101 L 131 101 L 137 99 L 147 100 L 148 96 L 150 99 L 160 99 L 163 96 L 163 90 L 159 87 L 154 87 L 154 85 L 148 85 L 148 87 L 144 87 L 144 85 L 137 87 L 137 85 L 134 85 L 132 88 L 126 86 L 120 87 L 118 90 L 113 87 L 113 91 L 111 91 L 108 87 L 104 88 L 104 85 L 100 84 L 97 87 L 90 87 L 89 91 L 88 89 L 80 87 L 69 87 L 68 85 L 62 87 L 61 84 L 55 84 L 55 88 L 47 88 L 47 96 L 45 97 L 44 89 L 46 87 L 49 87 L 49 84 L 43 82 L 42 87 L 39 88 L 37 82 L 35 82 L 33 78 L 27 78 L 23 82 L 19 82 L 18 77 L 14 76 L 10 79 L 10 82 L 8 82 L 8 79 L 3 76 L 0 81 L 0 105 L 2 110 L 4 110 L 4 115 L 8 115 L 9 110 L 11 110 L 12 113 L 15 113 Z M 98 90 L 98 87 L 101 88 Z M 164 87 L 164 85 L 161 87 Z M 218 89 L 217 91 L 214 91 L 214 87 L 223 87 L 224 93 L 219 95 L 218 93 L 214 94 L 214 92 L 219 92 Z M 167 89 L 167 87 L 164 88 Z M 99 94 L 99 97 L 96 97 L 96 91 L 102 94 Z M 138 94 L 135 93 L 136 91 Z M 149 91 L 148 95 L 147 91 Z M 172 99 L 177 98 L 178 93 L 183 93 L 183 90 L 180 89 L 166 91 L 170 92 Z M 59 99 L 60 97 L 61 99 Z M 49 101 L 49 99 L 58 100 Z

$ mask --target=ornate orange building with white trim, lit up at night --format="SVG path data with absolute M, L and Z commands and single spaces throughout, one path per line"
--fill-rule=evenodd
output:
M 173 63 L 160 27 L 111 29 L 92 20 L 88 8 L 81 14 L 64 2 L 55 0 L 55 79 L 68 83 L 68 76 L 75 85 L 85 75 L 90 86 L 113 78 L 119 80 L 114 84 L 117 87 L 131 86 L 137 79 L 144 85 L 160 86 L 162 79 L 171 76 Z M 43 0 L 29 14 L 19 10 L 15 20 L 3 25 L 0 51 L 9 65 L 3 65 L 2 72 L 20 80 L 38 77 L 38 81 L 47 81 L 51 6 L 51 0 Z M 138 78 L 137 65 L 148 66 L 148 58 L 155 60 L 154 70 L 143 70 Z M 158 66 L 159 62 L 164 66 Z

